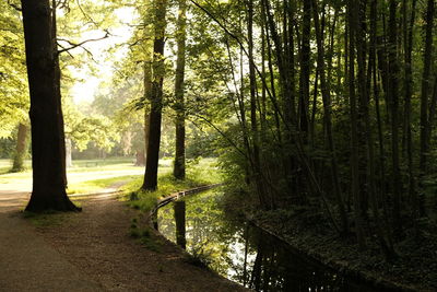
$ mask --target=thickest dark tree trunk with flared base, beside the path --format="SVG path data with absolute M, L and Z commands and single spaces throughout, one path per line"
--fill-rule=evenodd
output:
M 66 192 L 59 63 L 49 1 L 22 1 L 22 9 L 31 93 L 33 166 L 33 191 L 26 211 L 80 210 Z

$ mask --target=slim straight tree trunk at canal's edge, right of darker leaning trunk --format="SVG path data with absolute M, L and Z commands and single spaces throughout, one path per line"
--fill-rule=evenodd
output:
M 176 153 L 173 175 L 177 179 L 185 179 L 185 47 L 187 26 L 187 1 L 179 0 L 179 15 L 177 21 L 177 61 L 176 61 Z

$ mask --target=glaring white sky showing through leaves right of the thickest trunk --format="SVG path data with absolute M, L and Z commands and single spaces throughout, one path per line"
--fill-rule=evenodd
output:
M 118 9 L 115 13 L 120 23 L 131 23 L 135 14 L 133 8 Z M 83 45 L 93 54 L 93 58 L 97 61 L 97 65 L 93 66 L 97 68 L 98 72 L 92 74 L 86 65 L 81 70 L 72 70 L 74 79 L 78 80 L 71 89 L 71 94 L 75 104 L 81 104 L 83 102 L 91 103 L 94 100 L 94 94 L 96 93 L 99 83 L 111 78 L 114 72 L 113 65 L 122 59 L 128 51 L 126 46 L 119 47 L 110 60 L 106 59 L 106 50 L 108 48 L 117 44 L 127 43 L 133 33 L 132 27 L 129 25 L 120 25 L 119 27 L 109 28 L 109 32 L 111 36 Z M 104 35 L 105 32 L 103 31 L 91 31 L 83 34 L 82 39 L 101 38 Z

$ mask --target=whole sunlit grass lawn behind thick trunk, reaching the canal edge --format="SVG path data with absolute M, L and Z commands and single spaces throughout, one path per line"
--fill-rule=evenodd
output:
M 131 159 L 108 159 L 73 161 L 74 167 L 68 170 L 69 195 L 96 194 L 104 189 L 119 189 L 125 200 L 130 200 L 135 209 L 147 211 L 155 206 L 156 199 L 176 191 L 190 189 L 202 185 L 222 182 L 215 159 L 202 159 L 187 162 L 187 178 L 177 180 L 173 177 L 173 160 L 160 161 L 158 188 L 155 191 L 142 191 L 144 167 L 133 165 Z M 10 162 L 0 161 L 0 168 L 10 167 Z M 0 175 L 0 184 L 8 189 L 11 185 L 32 187 L 32 171 L 22 173 L 5 173 Z M 21 188 L 19 188 L 21 189 Z M 24 191 L 24 189 L 23 189 Z M 80 197 L 74 197 L 80 200 Z

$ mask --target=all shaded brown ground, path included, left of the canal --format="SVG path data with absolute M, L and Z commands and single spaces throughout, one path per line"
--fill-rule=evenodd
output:
M 21 194 L 21 195 L 20 195 Z M 0 287 L 5 291 L 245 291 L 198 267 L 155 232 L 129 234 L 135 210 L 113 189 L 78 213 L 23 217 L 23 194 L 0 191 Z M 17 196 L 20 195 L 20 196 Z

